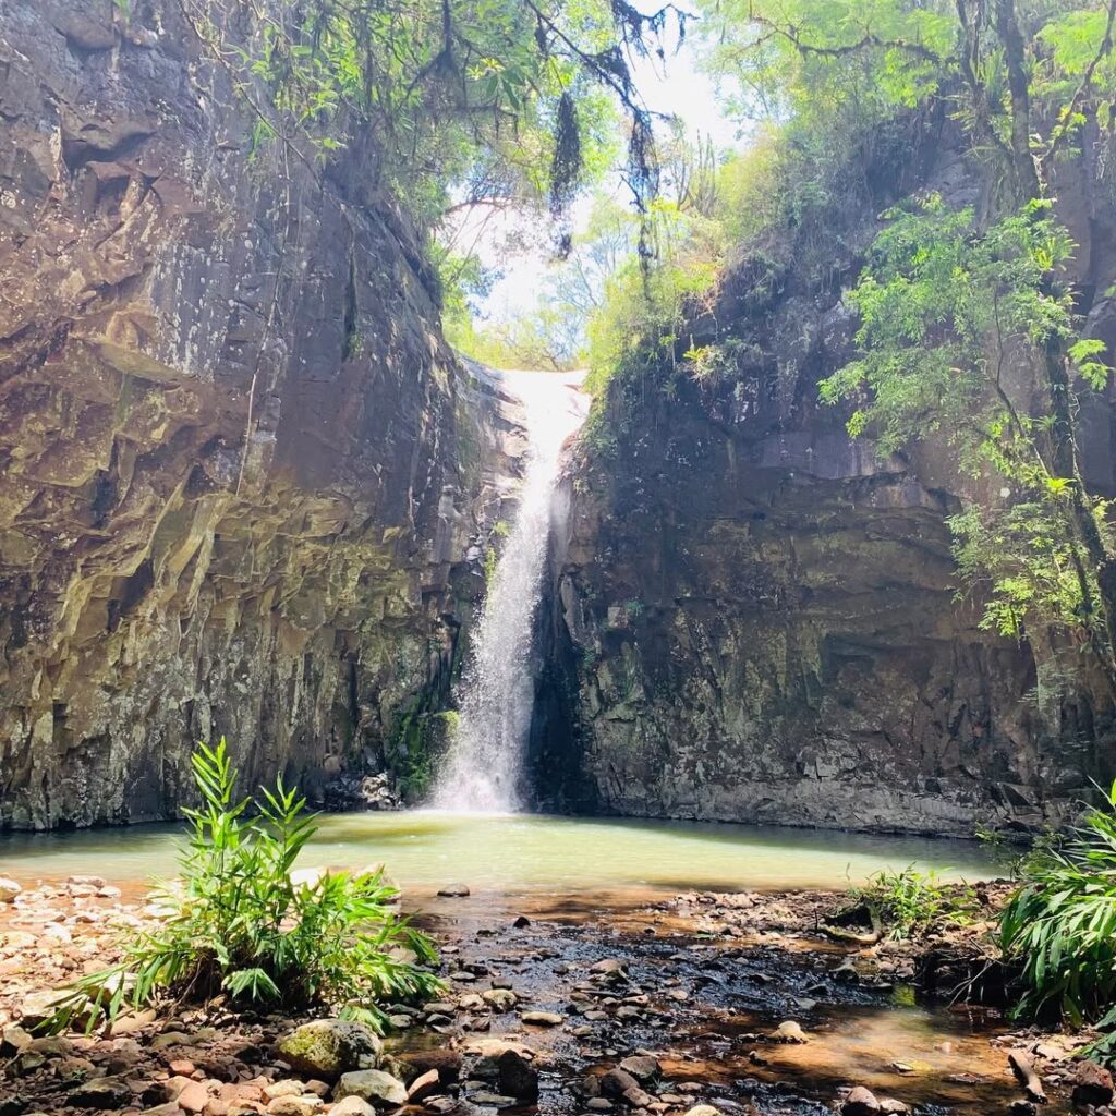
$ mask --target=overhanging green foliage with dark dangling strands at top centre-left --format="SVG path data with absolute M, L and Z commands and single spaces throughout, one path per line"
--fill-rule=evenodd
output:
M 661 49 L 672 21 L 684 33 L 671 4 L 183 0 L 183 11 L 248 100 L 256 145 L 328 160 L 371 137 L 383 181 L 427 228 L 449 208 L 508 199 L 560 215 L 612 150 L 616 108 L 635 199 L 654 194 L 651 116 L 628 58 Z

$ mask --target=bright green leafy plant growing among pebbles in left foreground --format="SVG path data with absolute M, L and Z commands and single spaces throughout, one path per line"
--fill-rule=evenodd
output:
M 172 913 L 117 964 L 69 985 L 47 1029 L 76 1018 L 92 1027 L 125 1004 L 204 1002 L 221 992 L 270 1008 L 337 1006 L 378 1028 L 377 1002 L 439 991 L 422 968 L 437 961 L 433 943 L 398 915 L 400 892 L 381 869 L 291 877 L 317 828 L 297 790 L 280 779 L 238 800 L 224 738 L 199 744 L 191 762 L 202 806 L 186 811 L 181 885 L 156 893 Z

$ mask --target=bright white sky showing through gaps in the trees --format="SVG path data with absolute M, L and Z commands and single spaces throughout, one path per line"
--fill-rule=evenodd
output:
M 671 51 L 672 46 L 667 44 L 665 61 L 657 58 L 629 59 L 636 86 L 647 107 L 655 113 L 679 117 L 691 136 L 711 138 L 719 151 L 738 147 L 741 143 L 738 124 L 724 114 L 713 83 L 699 69 L 692 37 L 676 52 Z M 627 191 L 618 175 L 614 189 L 617 198 L 626 199 Z M 588 196 L 574 204 L 570 218 L 575 235 L 588 220 L 590 205 L 591 198 Z M 514 230 L 519 220 L 516 217 L 493 219 L 490 215 L 484 230 L 474 233 L 466 229 L 461 235 L 462 246 L 475 240 L 478 256 L 485 267 L 503 272 L 480 304 L 482 314 L 491 321 L 511 320 L 530 309 L 535 291 L 552 258 L 549 235 L 535 238 L 537 251 L 508 256 L 508 233 Z

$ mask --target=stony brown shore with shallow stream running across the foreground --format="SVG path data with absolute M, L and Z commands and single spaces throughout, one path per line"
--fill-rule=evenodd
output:
M 949 1002 L 949 980 L 992 964 L 1003 885 L 983 886 L 968 925 L 914 942 L 835 939 L 837 892 L 536 898 L 517 916 L 445 891 L 423 916 L 445 991 L 392 1006 L 383 1040 L 220 1001 L 47 1038 L 51 990 L 161 912 L 93 876 L 0 886 L 0 1116 L 1108 1112 L 1107 1071 L 1074 1058 L 1080 1036 Z

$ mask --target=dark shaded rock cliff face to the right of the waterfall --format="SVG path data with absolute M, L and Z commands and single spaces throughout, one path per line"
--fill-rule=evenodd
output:
M 979 201 L 945 145 L 910 162 L 917 184 Z M 1062 217 L 1107 335 L 1116 222 L 1087 169 L 1066 175 Z M 820 290 L 792 252 L 730 273 L 693 324 L 692 345 L 735 340 L 716 382 L 665 368 L 612 386 L 615 444 L 586 450 L 556 556 L 551 639 L 567 671 L 545 708 L 552 719 L 565 701 L 577 740 L 568 800 L 971 834 L 1041 822 L 1089 775 L 1110 778 L 1112 712 L 1075 677 L 1080 656 L 982 632 L 979 608 L 955 599 L 945 520 L 966 482 L 945 448 L 882 461 L 817 402 L 854 350 L 841 295 L 874 214 L 915 184 L 869 191 Z M 1022 371 L 1013 389 L 1032 386 Z M 1088 401 L 1085 433 L 1110 490 L 1107 401 Z

